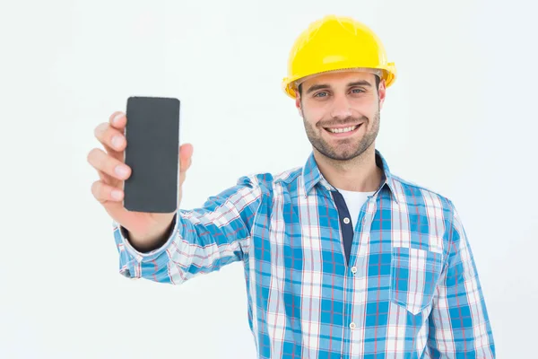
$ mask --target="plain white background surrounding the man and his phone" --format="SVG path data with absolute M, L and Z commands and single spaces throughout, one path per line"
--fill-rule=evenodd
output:
M 536 8 L 513 1 L 2 2 L 0 357 L 254 358 L 242 266 L 181 286 L 117 272 L 91 196 L 93 129 L 131 95 L 182 101 L 195 147 L 181 206 L 311 147 L 280 88 L 327 13 L 365 22 L 398 78 L 377 149 L 454 200 L 499 358 L 530 358 L 538 314 Z

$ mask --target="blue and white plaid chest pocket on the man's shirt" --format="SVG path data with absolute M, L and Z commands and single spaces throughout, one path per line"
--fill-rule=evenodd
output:
M 442 255 L 395 247 L 391 254 L 390 300 L 416 315 L 431 304 L 442 270 Z

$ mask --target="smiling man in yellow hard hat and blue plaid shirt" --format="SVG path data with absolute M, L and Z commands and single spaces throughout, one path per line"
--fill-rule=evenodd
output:
M 454 204 L 395 176 L 375 148 L 395 80 L 377 36 L 326 16 L 296 40 L 288 70 L 282 87 L 313 146 L 308 161 L 243 176 L 200 208 L 126 211 L 127 119 L 98 127 L 107 153 L 89 155 L 100 173 L 92 191 L 114 219 L 120 272 L 180 285 L 243 261 L 260 358 L 495 357 Z M 192 150 L 181 148 L 180 185 Z

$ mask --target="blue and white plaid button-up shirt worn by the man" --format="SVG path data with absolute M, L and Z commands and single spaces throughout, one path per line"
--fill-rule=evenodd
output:
M 376 162 L 385 176 L 354 230 L 311 153 L 178 210 L 158 250 L 134 250 L 114 223 L 120 273 L 180 285 L 241 261 L 259 358 L 494 358 L 454 204 L 396 177 L 377 150 Z

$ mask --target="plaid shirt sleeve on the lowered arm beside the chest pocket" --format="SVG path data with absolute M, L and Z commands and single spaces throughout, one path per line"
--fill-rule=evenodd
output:
M 455 206 L 449 228 L 447 266 L 430 312 L 427 357 L 495 358 L 495 344 L 482 285 Z

